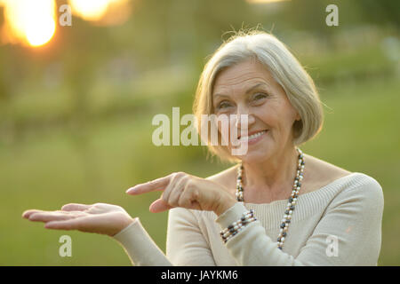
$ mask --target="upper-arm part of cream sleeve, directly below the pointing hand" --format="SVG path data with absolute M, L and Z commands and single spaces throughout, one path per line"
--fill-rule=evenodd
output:
M 198 219 L 190 209 L 174 208 L 168 213 L 166 254 L 175 265 L 215 266 L 209 244 Z

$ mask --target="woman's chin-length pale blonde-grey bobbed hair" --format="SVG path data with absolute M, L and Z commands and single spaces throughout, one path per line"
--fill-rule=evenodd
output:
M 322 129 L 324 114 L 313 80 L 284 43 L 275 36 L 259 30 L 240 31 L 231 36 L 205 64 L 193 105 L 199 134 L 202 114 L 213 113 L 212 91 L 217 75 L 222 70 L 246 59 L 256 59 L 268 68 L 276 82 L 284 89 L 292 106 L 300 114 L 300 121 L 293 123 L 293 144 L 299 146 L 314 138 Z M 220 137 L 220 133 L 218 135 Z M 211 154 L 219 156 L 221 161 L 238 162 L 226 146 L 211 145 L 210 135 L 206 142 Z

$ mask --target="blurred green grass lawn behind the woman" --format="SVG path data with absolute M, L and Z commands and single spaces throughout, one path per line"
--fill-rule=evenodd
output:
M 380 182 L 385 197 L 380 265 L 400 264 L 400 82 L 345 82 L 321 90 L 324 130 L 301 148 Z M 169 114 L 170 109 L 165 109 Z M 207 177 L 228 165 L 207 162 L 204 148 L 156 147 L 154 114 L 121 115 L 84 126 L 31 131 L 0 147 L 0 264 L 130 265 L 116 241 L 97 234 L 45 230 L 22 219 L 25 209 L 60 209 L 68 202 L 108 202 L 138 216 L 165 249 L 167 213 L 148 206 L 159 193 L 128 196 L 131 185 L 183 170 Z M 59 256 L 59 238 L 72 238 L 72 257 Z

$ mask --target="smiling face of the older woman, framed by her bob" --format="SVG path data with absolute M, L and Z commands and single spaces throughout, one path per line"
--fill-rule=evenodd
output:
M 212 104 L 217 116 L 248 115 L 247 126 L 230 121 L 230 126 L 236 127 L 239 140 L 247 141 L 247 154 L 237 156 L 242 161 L 262 161 L 292 146 L 292 125 L 300 115 L 284 89 L 260 62 L 249 59 L 221 71 L 214 83 Z M 221 131 L 221 125 L 218 127 Z M 241 129 L 246 127 L 247 138 L 240 137 Z M 228 148 L 232 149 L 232 141 Z

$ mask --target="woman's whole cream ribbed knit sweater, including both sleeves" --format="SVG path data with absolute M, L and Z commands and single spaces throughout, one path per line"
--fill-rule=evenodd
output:
M 114 239 L 134 265 L 377 265 L 383 203 L 380 184 L 353 172 L 300 194 L 282 250 L 276 238 L 287 200 L 237 202 L 220 217 L 211 211 L 170 209 L 166 256 L 139 218 Z M 220 230 L 248 209 L 258 220 L 224 244 Z

